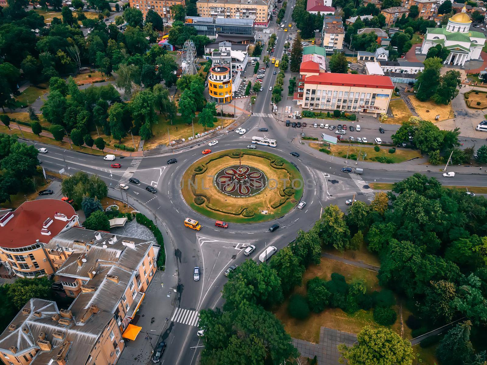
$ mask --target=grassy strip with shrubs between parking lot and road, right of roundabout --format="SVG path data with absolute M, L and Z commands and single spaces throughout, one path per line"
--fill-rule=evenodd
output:
M 310 147 L 323 152 L 323 146 L 318 143 L 310 143 Z M 394 153 L 389 153 L 389 150 L 394 150 Z M 325 152 L 328 153 L 328 152 Z M 364 159 L 364 153 L 366 153 Z M 393 149 L 393 147 L 379 147 L 376 151 L 371 145 L 332 145 L 329 150 L 329 155 L 335 155 L 341 158 L 347 158 L 349 160 L 367 161 L 367 162 L 378 162 L 383 164 L 399 164 L 401 162 L 411 160 L 413 158 L 421 157 L 421 154 L 417 150 L 412 149 Z

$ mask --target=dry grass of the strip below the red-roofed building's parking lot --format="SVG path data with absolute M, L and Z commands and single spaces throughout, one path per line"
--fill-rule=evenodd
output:
M 317 143 L 310 143 L 309 146 L 318 149 L 322 148 L 321 145 Z M 376 158 L 378 157 L 386 157 L 392 161 L 391 163 L 393 164 L 398 164 L 400 162 L 404 162 L 406 160 L 410 160 L 414 157 L 421 157 L 421 154 L 419 151 L 414 151 L 412 149 L 396 149 L 395 153 L 389 153 L 389 147 L 380 147 L 380 150 L 376 152 L 374 148 L 369 147 L 369 146 L 343 146 L 343 145 L 336 145 L 336 146 L 331 146 L 331 153 L 330 154 L 336 154 L 338 157 L 346 158 L 347 153 L 348 157 L 350 158 L 351 155 L 355 156 L 363 156 L 363 153 L 366 152 L 367 156 L 365 157 L 365 161 L 368 162 L 378 162 L 375 161 Z

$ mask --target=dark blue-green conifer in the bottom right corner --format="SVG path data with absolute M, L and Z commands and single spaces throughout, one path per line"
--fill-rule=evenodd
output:
M 473 356 L 470 327 L 470 321 L 459 323 L 440 341 L 436 356 L 442 365 L 468 364 Z

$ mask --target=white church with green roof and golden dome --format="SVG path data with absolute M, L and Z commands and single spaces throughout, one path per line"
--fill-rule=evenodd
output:
M 471 31 L 472 20 L 464 7 L 448 19 L 448 24 L 441 28 L 428 28 L 421 53 L 426 55 L 431 47 L 441 44 L 450 50 L 445 64 L 464 66 L 470 59 L 480 59 L 480 52 L 486 42 L 486 36 L 481 32 Z

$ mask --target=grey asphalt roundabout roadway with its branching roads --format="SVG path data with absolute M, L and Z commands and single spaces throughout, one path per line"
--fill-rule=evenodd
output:
M 291 5 L 288 4 L 285 18 L 289 22 Z M 294 27 L 292 28 L 294 30 Z M 277 55 L 282 54 L 285 36 L 289 33 L 279 32 L 276 45 Z M 263 80 L 263 91 L 257 98 L 254 112 L 271 113 L 271 91 L 269 86 L 274 85 L 277 75 L 273 75 L 271 68 L 266 72 Z M 217 228 L 214 220 L 201 216 L 190 209 L 182 199 L 180 182 L 183 173 L 189 165 L 202 158 L 201 151 L 208 146 L 200 144 L 187 147 L 166 156 L 144 157 L 141 159 L 117 158 L 122 168 L 112 169 L 112 162 L 105 161 L 101 156 L 92 156 L 69 149 L 36 144 L 38 148 L 46 147 L 49 152 L 39 154 L 42 166 L 48 170 L 59 171 L 64 168 L 66 173 L 73 174 L 85 171 L 99 175 L 107 184 L 116 186 L 122 175 L 126 173 L 131 164 L 138 164 L 133 176 L 141 181 L 140 185 L 130 183 L 130 189 L 120 191 L 121 199 L 125 194 L 130 195 L 145 204 L 153 212 L 154 219 L 160 219 L 172 237 L 177 247 L 174 255 L 179 260 L 179 286 L 176 307 L 183 310 L 200 311 L 206 308 L 215 308 L 222 304 L 221 290 L 226 282 L 223 274 L 230 264 L 240 264 L 246 258 L 243 249 L 253 244 L 256 250 L 250 258 L 257 260 L 259 254 L 269 245 L 281 249 L 291 241 L 300 230 L 308 230 L 319 218 L 324 206 L 337 204 L 342 210 L 346 209 L 345 200 L 351 199 L 354 194 L 357 200 L 368 201 L 354 181 L 347 173 L 342 173 L 341 164 L 325 161 L 300 152 L 300 157 L 292 157 L 290 152 L 295 151 L 291 143 L 298 137 L 300 130 L 286 128 L 274 118 L 250 117 L 242 126 L 247 129 L 243 136 L 234 132 L 221 136 L 217 146 L 210 147 L 212 151 L 221 151 L 231 148 L 245 148 L 251 143 L 252 136 L 266 136 L 278 141 L 275 148 L 258 146 L 258 149 L 273 152 L 282 158 L 297 164 L 303 175 L 305 189 L 302 201 L 307 205 L 302 210 L 293 209 L 277 221 L 281 228 L 274 233 L 268 228 L 275 221 L 256 223 L 251 225 L 230 224 L 227 229 Z M 268 132 L 258 132 L 258 128 L 266 127 Z M 386 126 L 384 126 L 386 127 Z M 363 128 L 363 127 L 362 127 Z M 319 128 L 318 128 L 319 130 Z M 367 130 L 363 133 L 367 133 Z M 321 130 L 319 131 L 321 133 Z M 373 138 L 373 137 L 371 137 Z M 177 164 L 167 164 L 169 158 L 176 158 Z M 140 161 L 140 164 L 139 164 Z M 411 171 L 365 170 L 362 178 L 366 182 L 392 183 L 403 180 L 412 175 Z M 443 178 L 439 172 L 427 173 L 428 176 L 438 178 L 441 183 L 457 185 L 485 186 L 484 176 L 457 174 L 454 178 Z M 157 193 L 146 191 L 146 186 L 156 187 Z M 185 218 L 197 219 L 202 224 L 201 231 L 185 228 Z M 170 246 L 166 247 L 167 255 L 171 255 Z M 199 266 L 201 275 L 199 281 L 193 280 L 193 268 Z M 150 300 L 150 298 L 148 299 Z M 179 318 L 170 318 L 173 322 L 162 338 L 168 343 L 161 364 L 190 365 L 196 364 L 202 341 L 196 335 L 197 327 L 179 323 Z

